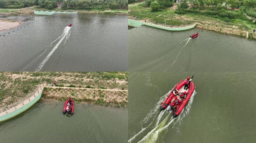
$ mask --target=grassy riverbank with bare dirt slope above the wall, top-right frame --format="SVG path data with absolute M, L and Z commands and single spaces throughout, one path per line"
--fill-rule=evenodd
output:
M 252 32 L 253 29 L 256 29 L 256 25 L 253 22 L 241 19 L 235 19 L 231 20 L 230 22 L 226 22 L 222 19 L 213 18 L 210 16 L 189 13 L 186 13 L 185 15 L 180 15 L 175 12 L 176 9 L 177 6 L 174 5 L 173 7 L 169 7 L 168 9 L 159 12 L 151 12 L 150 8 L 142 7 L 140 6 L 140 4 L 138 4 L 134 6 L 129 6 L 128 13 L 129 18 L 134 18 L 134 16 L 138 16 L 138 20 L 146 20 L 150 23 L 168 26 L 184 26 L 191 25 L 192 23 L 198 23 L 196 25 L 196 28 L 199 29 L 207 29 L 222 34 L 229 34 L 256 40 L 256 34 L 253 34 Z

